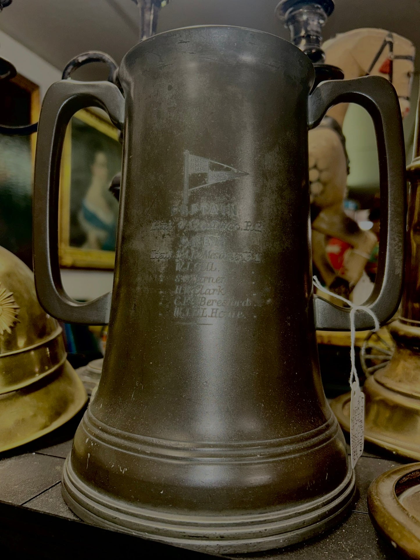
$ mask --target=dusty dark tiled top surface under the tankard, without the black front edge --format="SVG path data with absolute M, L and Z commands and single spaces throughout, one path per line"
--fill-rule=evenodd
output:
M 61 471 L 71 450 L 72 435 L 80 418 L 75 418 L 52 435 L 24 448 L 0 455 L 0 501 L 46 514 L 78 520 L 61 496 Z M 367 510 L 367 489 L 379 474 L 401 463 L 379 448 L 367 446 L 356 465 L 357 498 L 342 524 L 304 544 L 235 558 L 278 558 L 282 560 L 382 560 L 398 558 L 372 526 Z M 48 516 L 45 516 L 48 519 Z M 1 528 L 0 528 L 1 531 Z M 139 539 L 139 542 L 142 542 Z M 144 542 L 144 541 L 143 541 Z M 197 554 L 197 558 L 204 555 Z M 206 555 L 207 556 L 207 555 Z M 190 557 L 190 556 L 189 556 Z

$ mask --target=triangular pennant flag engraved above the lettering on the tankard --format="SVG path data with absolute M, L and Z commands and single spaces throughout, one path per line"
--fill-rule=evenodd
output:
M 236 179 L 242 175 L 248 175 L 245 171 L 239 171 L 230 165 L 220 164 L 218 161 L 208 160 L 206 157 L 193 156 L 188 150 L 184 152 L 184 204 L 188 204 L 188 198 L 193 190 L 203 186 L 223 183 L 230 179 Z

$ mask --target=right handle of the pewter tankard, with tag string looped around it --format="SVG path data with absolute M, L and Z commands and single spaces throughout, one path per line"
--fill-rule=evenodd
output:
M 403 285 L 405 233 L 405 153 L 398 97 L 385 78 L 366 76 L 354 80 L 321 83 L 309 96 L 309 128 L 320 123 L 337 103 L 357 103 L 370 114 L 375 125 L 381 194 L 379 262 L 374 291 L 368 306 L 381 324 L 398 308 Z M 316 328 L 348 330 L 349 309 L 315 296 Z M 365 312 L 355 316 L 356 329 L 374 328 Z

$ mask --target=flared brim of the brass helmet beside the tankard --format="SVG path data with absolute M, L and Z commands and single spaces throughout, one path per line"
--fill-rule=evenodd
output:
M 66 361 L 53 374 L 0 395 L 0 451 L 52 432 L 81 410 L 86 391 Z

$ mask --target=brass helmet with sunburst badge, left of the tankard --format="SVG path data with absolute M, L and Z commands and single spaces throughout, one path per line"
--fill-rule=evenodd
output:
M 43 311 L 31 270 L 0 247 L 0 451 L 35 440 L 86 403 L 62 329 Z

